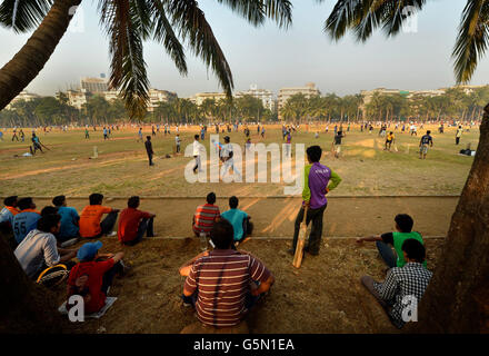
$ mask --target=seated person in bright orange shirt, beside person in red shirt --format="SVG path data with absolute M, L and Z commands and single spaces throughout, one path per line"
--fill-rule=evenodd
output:
M 112 229 L 119 209 L 102 206 L 103 195 L 101 194 L 90 195 L 89 200 L 90 205 L 86 206 L 80 215 L 80 236 L 84 238 L 100 238 L 102 235 L 114 236 L 117 233 Z M 101 221 L 103 214 L 107 214 L 107 217 Z

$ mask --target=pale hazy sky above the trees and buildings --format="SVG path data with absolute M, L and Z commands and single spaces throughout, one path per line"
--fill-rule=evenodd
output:
M 52 95 L 78 86 L 80 77 L 109 75 L 108 41 L 99 26 L 94 0 L 82 4 L 84 30 L 64 34 L 51 59 L 28 87 Z M 379 87 L 437 89 L 455 82 L 451 50 L 466 1 L 431 0 L 418 14 L 418 31 L 387 39 L 378 31 L 367 43 L 351 36 L 332 42 L 323 32 L 333 0 L 292 0 L 293 24 L 280 30 L 269 21 L 253 28 L 216 0 L 199 1 L 231 66 L 236 90 L 251 83 L 277 93 L 281 87 L 316 82 L 322 93 L 356 93 Z M 80 27 L 79 27 L 80 29 Z M 23 46 L 29 34 L 16 36 L 0 28 L 0 66 Z M 158 43 L 144 46 L 151 87 L 190 97 L 220 91 L 211 70 L 187 52 L 189 73 L 181 77 Z M 471 83 L 489 82 L 489 60 L 483 59 Z

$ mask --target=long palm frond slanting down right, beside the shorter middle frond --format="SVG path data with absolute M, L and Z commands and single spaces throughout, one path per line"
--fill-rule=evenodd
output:
M 194 0 L 168 0 L 167 11 L 187 40 L 196 56 L 211 67 L 228 97 L 231 97 L 233 81 L 231 68 L 216 39 L 206 16 Z

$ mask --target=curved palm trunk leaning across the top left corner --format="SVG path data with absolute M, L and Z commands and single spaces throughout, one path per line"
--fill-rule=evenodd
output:
M 70 8 L 82 0 L 54 0 L 39 28 L 16 56 L 0 69 L 0 110 L 16 98 L 44 68 L 70 24 Z

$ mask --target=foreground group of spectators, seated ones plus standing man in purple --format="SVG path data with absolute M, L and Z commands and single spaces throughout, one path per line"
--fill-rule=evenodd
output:
M 308 224 L 312 221 L 312 230 L 305 253 L 317 256 L 321 245 L 322 214 L 327 205 L 325 196 L 341 179 L 319 164 L 321 149 L 318 146 L 308 148 L 307 155 L 310 164 L 306 167 L 308 182 L 302 195 L 303 206 L 296 221 L 292 249 L 289 251 L 295 254 L 300 221 L 306 220 Z M 222 328 L 239 325 L 269 293 L 275 277 L 258 258 L 237 250 L 237 246 L 247 241 L 253 229 L 251 217 L 238 209 L 239 199 L 234 196 L 229 198 L 229 209 L 222 214 L 216 200 L 216 194 L 210 192 L 207 202 L 197 207 L 192 219 L 193 234 L 209 237 L 213 249 L 186 263 L 179 273 L 186 277 L 183 305 L 194 307 L 203 325 Z M 103 195 L 92 194 L 89 205 L 80 215 L 68 206 L 64 196 L 54 197 L 53 206 L 44 207 L 41 211 L 37 210 L 30 197 L 18 199 L 12 196 L 3 202 L 0 234 L 10 237 L 9 243 L 26 274 L 38 280 L 47 269 L 62 264 L 70 270 L 68 297 L 81 295 L 87 304 L 86 313 L 97 313 L 104 306 L 114 276 L 122 276 L 128 267 L 122 261 L 123 253 L 99 254 L 102 247 L 100 240 L 87 241 L 80 248 L 68 247 L 80 240 L 116 235 L 121 245 L 134 246 L 144 234 L 147 237 L 154 236 L 156 215 L 139 210 L 140 199 L 137 196 L 129 198 L 128 207 L 120 211 L 102 205 Z M 118 219 L 116 233 L 113 228 Z M 376 243 L 379 256 L 387 266 L 386 280 L 379 283 L 370 276 L 363 276 L 361 284 L 385 308 L 392 324 L 400 328 L 407 322 L 405 309 L 409 303 L 420 300 L 432 274 L 427 269 L 422 236 L 412 230 L 413 219 L 400 214 L 395 222 L 396 231 L 359 238 L 357 243 Z

